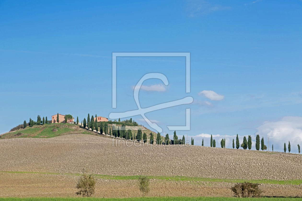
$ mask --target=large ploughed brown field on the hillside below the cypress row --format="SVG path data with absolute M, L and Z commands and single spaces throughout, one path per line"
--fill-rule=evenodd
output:
M 300 155 L 203 146 L 151 149 L 139 143 L 122 145 L 113 145 L 110 138 L 83 134 L 4 139 L 0 140 L 0 171 L 79 173 L 88 163 L 93 173 L 106 175 L 302 179 Z

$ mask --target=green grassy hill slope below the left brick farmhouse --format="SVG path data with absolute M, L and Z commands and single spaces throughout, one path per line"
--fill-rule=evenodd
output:
M 58 131 L 53 132 L 53 129 Z M 17 133 L 23 133 L 17 135 Z M 34 125 L 33 127 L 26 127 L 25 129 L 19 129 L 14 132 L 8 132 L 1 135 L 0 139 L 10 139 L 10 138 L 22 138 L 22 137 L 34 137 L 34 138 L 50 138 L 59 135 L 66 134 L 95 134 L 94 132 L 82 129 L 79 125 L 75 124 L 45 124 L 45 125 Z

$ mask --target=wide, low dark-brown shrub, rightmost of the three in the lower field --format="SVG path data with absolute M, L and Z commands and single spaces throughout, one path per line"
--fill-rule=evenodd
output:
M 237 197 L 260 197 L 262 191 L 258 186 L 258 183 L 244 182 L 236 184 L 231 190 Z

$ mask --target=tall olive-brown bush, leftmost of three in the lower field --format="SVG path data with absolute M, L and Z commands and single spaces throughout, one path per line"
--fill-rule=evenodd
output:
M 83 168 L 82 174 L 76 188 L 79 191 L 76 192 L 77 195 L 82 195 L 83 197 L 90 197 L 95 192 L 96 178 L 89 172 L 87 165 Z

